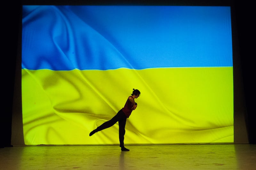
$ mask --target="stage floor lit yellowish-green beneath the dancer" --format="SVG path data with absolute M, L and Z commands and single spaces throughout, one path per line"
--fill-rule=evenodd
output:
M 1 170 L 256 169 L 253 144 L 14 146 L 0 148 Z

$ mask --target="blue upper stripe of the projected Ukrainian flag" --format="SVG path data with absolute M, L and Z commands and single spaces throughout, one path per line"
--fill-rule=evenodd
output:
M 23 6 L 23 69 L 227 66 L 230 7 Z

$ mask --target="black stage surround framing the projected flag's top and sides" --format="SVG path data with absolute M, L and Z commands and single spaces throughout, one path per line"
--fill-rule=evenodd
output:
M 90 2 L 86 1 L 86 4 Z M 2 7 L 2 113 L 1 113 L 1 147 L 12 146 L 12 138 L 22 138 L 22 134 L 13 133 L 13 127 L 22 132 L 20 94 L 20 60 L 21 60 L 21 6 L 22 4 L 85 4 L 82 0 L 68 1 L 9 1 Z M 93 4 L 145 4 L 145 5 L 200 5 L 231 6 L 233 62 L 234 62 L 234 134 L 235 143 L 255 144 L 254 97 L 254 7 L 249 1 L 94 1 Z M 15 76 L 16 75 L 16 76 Z M 13 122 L 12 120 L 20 120 Z M 17 123 L 18 122 L 18 123 Z M 12 124 L 13 123 L 13 124 Z M 245 126 L 243 125 L 245 123 Z M 244 128 L 245 127 L 245 128 Z

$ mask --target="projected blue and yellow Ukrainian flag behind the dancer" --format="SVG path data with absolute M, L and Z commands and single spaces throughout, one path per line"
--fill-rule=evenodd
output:
M 232 143 L 230 7 L 23 6 L 25 144 Z

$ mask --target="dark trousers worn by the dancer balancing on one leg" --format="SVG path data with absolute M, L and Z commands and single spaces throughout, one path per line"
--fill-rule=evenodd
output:
M 107 122 L 102 123 L 102 125 L 100 125 L 96 130 L 98 132 L 100 130 L 107 129 L 107 128 L 113 126 L 114 124 L 116 124 L 116 122 L 118 122 L 119 142 L 120 142 L 120 147 L 123 147 L 124 146 L 124 134 L 125 134 L 126 119 L 127 119 L 127 117 L 121 109 L 121 110 L 119 110 L 119 112 L 117 112 L 117 114 L 112 119 L 110 119 Z

